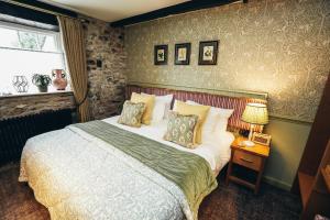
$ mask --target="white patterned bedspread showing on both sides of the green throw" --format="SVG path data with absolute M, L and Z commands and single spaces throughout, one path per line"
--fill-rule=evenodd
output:
M 105 121 L 206 158 L 217 173 L 228 162 L 232 134 L 205 140 L 196 150 L 163 141 L 166 123 L 133 129 Z M 183 191 L 153 169 L 78 128 L 30 139 L 20 182 L 28 182 L 52 219 L 191 219 Z

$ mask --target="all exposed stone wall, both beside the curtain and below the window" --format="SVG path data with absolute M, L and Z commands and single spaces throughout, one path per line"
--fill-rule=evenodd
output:
M 103 119 L 119 113 L 124 100 L 123 29 L 84 19 L 90 110 L 94 119 Z M 72 92 L 0 97 L 0 119 L 64 108 L 75 108 Z

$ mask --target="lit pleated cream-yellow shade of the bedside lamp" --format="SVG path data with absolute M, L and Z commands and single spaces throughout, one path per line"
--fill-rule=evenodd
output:
M 242 121 L 251 124 L 267 124 L 268 111 L 266 105 L 248 103 L 242 116 Z

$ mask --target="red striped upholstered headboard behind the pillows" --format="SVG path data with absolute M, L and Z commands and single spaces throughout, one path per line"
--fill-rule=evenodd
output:
M 265 99 L 255 99 L 255 98 L 248 98 L 248 97 L 229 97 L 229 96 L 221 96 L 215 94 L 207 94 L 207 92 L 198 92 L 198 91 L 184 91 L 184 90 L 174 90 L 174 89 L 166 89 L 166 88 L 155 88 L 155 87 L 141 87 L 134 85 L 127 86 L 127 99 L 130 99 L 132 92 L 145 92 L 145 94 L 153 94 L 156 96 L 164 96 L 168 94 L 174 95 L 174 100 L 187 101 L 193 100 L 201 105 L 219 107 L 223 109 L 234 109 L 233 114 L 230 117 L 228 125 L 231 129 L 244 129 L 249 130 L 250 124 L 241 121 L 242 113 L 245 109 L 246 103 L 249 102 L 256 102 L 256 103 L 266 103 Z M 173 103 L 172 103 L 173 105 Z M 254 131 L 260 132 L 262 127 L 256 125 L 254 127 Z

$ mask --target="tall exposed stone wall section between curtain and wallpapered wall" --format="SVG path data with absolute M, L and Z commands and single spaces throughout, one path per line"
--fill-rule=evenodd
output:
M 103 119 L 120 113 L 124 101 L 124 30 L 84 19 L 90 111 L 94 119 Z

